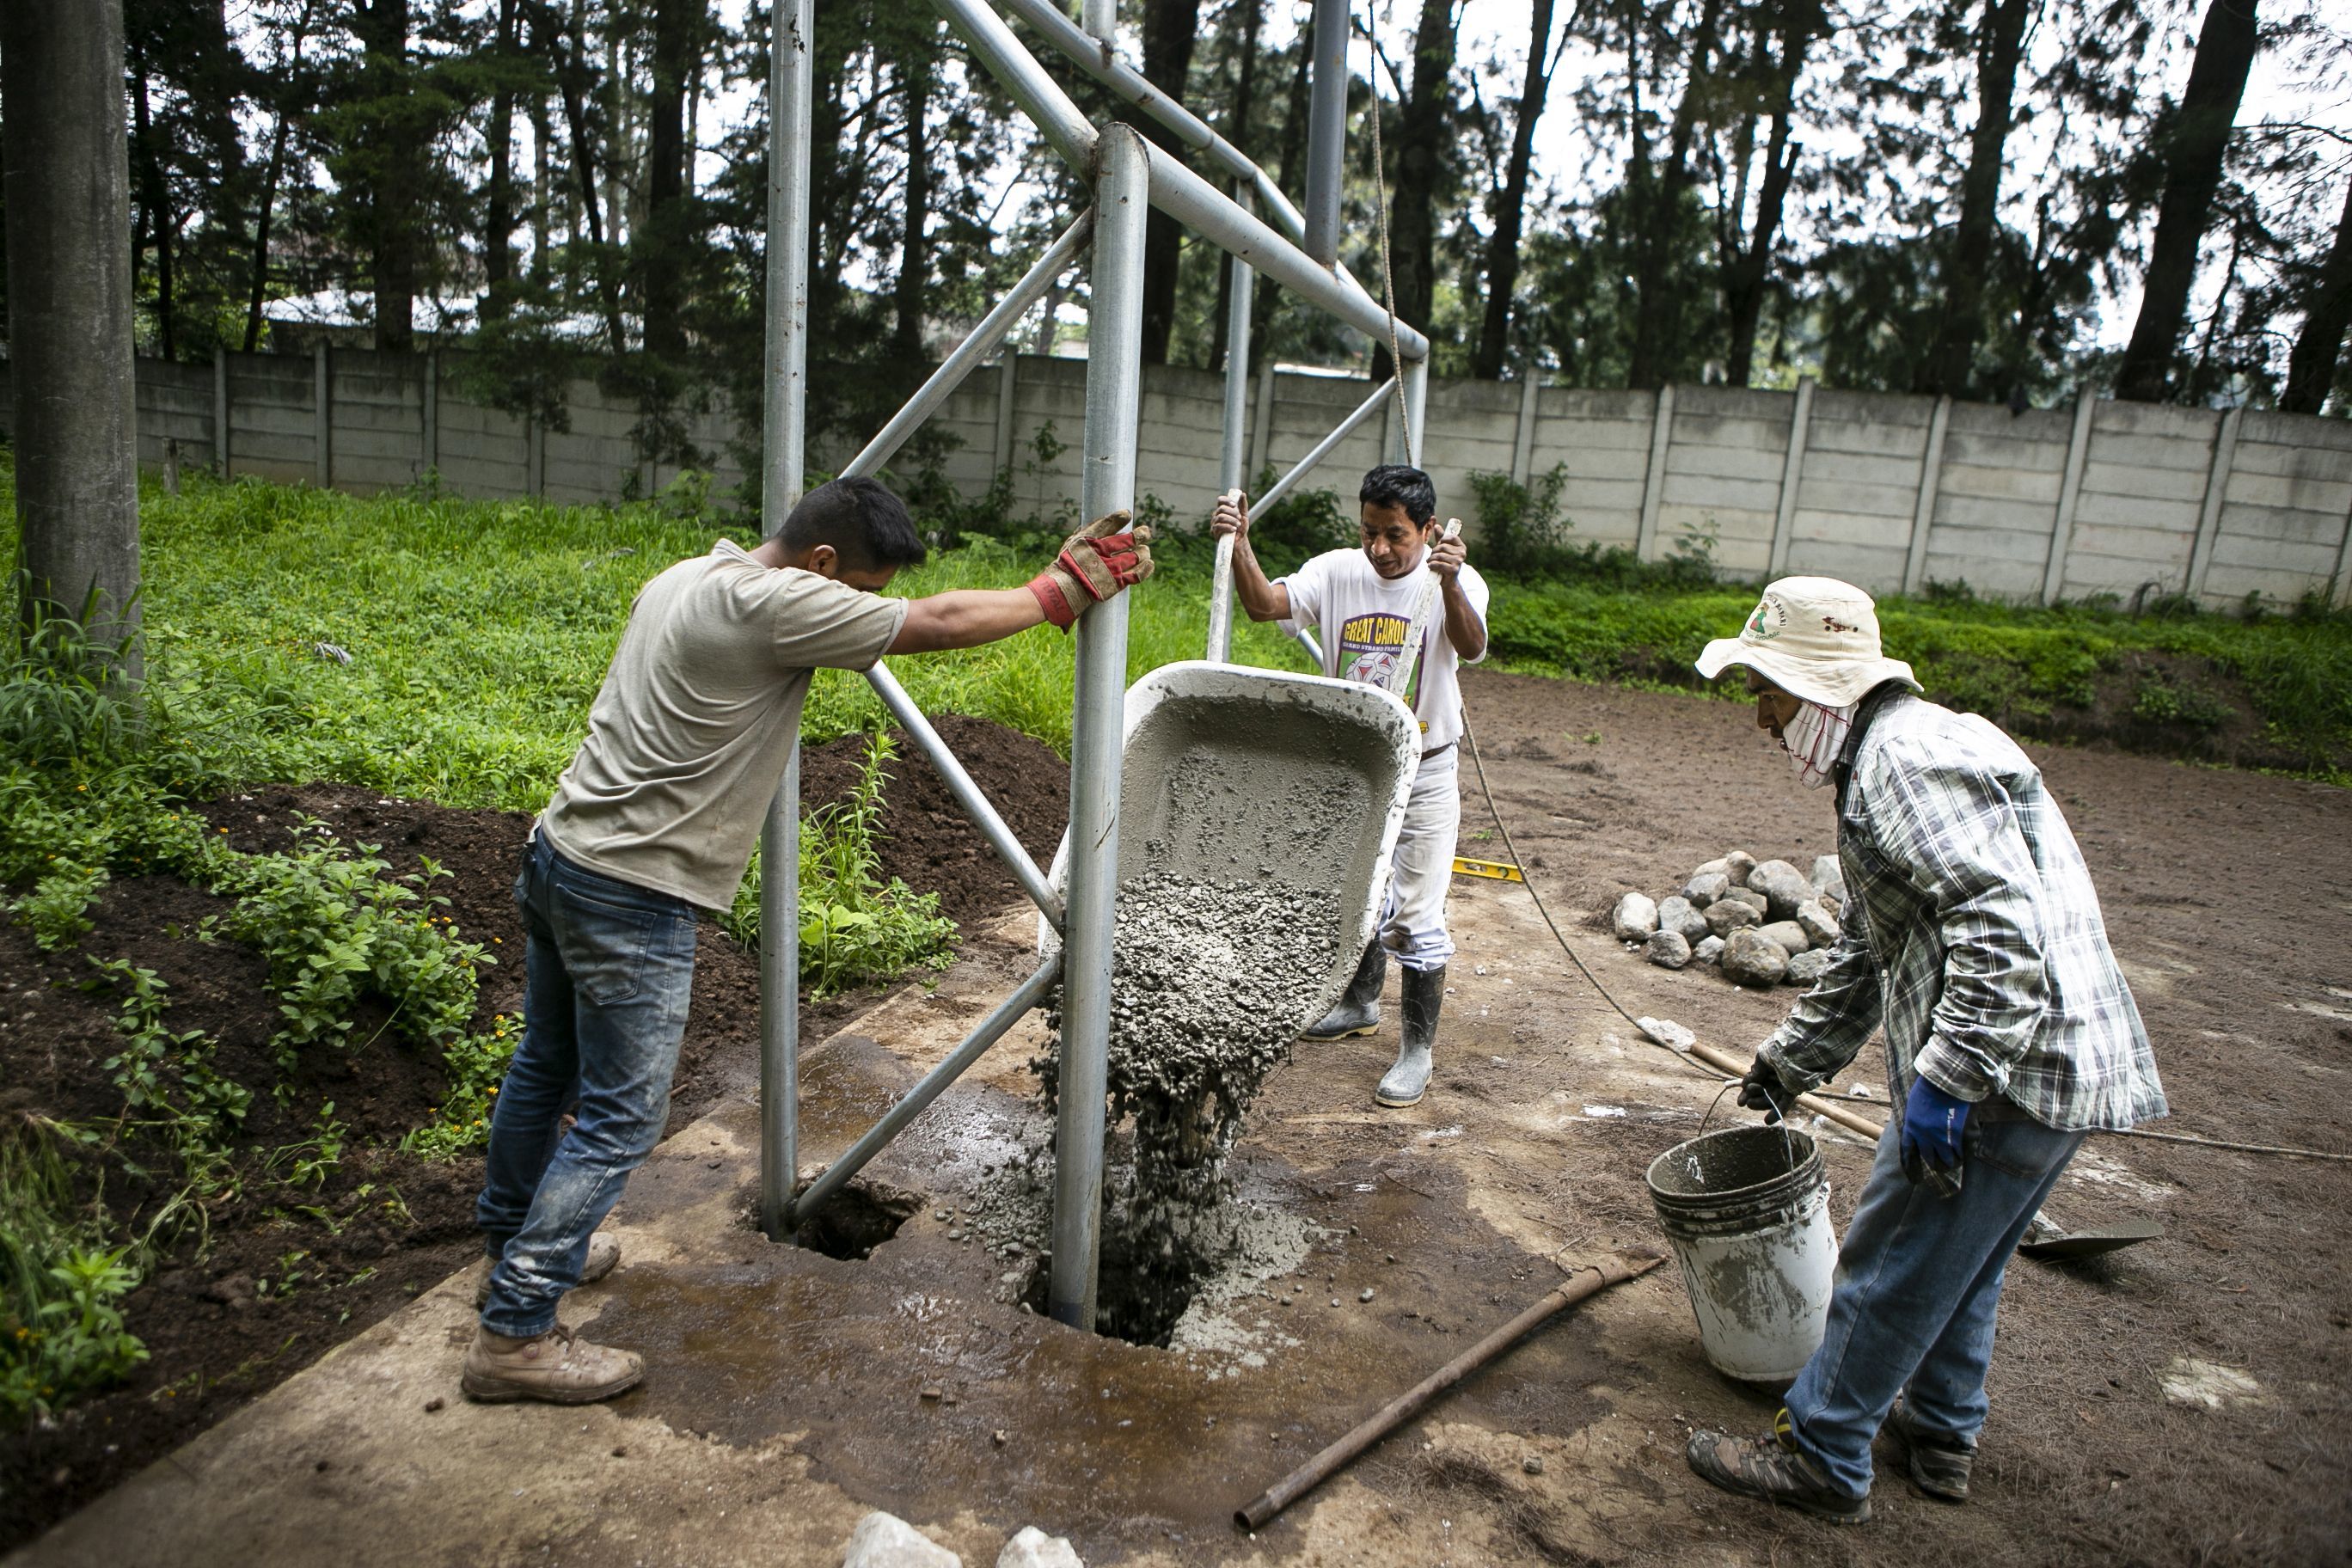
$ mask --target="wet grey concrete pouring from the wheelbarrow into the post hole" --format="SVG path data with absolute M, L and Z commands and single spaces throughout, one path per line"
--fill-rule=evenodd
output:
M 1200 1284 L 1247 1253 L 1263 1215 L 1232 1204 L 1228 1154 L 1265 1077 L 1289 1060 L 1298 1009 L 1331 971 L 1338 910 L 1294 882 L 1202 882 L 1150 870 L 1120 884 L 1103 1150 L 1101 1333 L 1167 1345 Z M 1061 1013 L 1030 1070 L 1047 1112 Z M 1035 1260 L 1042 1300 L 1051 1152 L 1007 1168 L 978 1204 L 1000 1255 Z M 1018 1284 L 1018 1272 L 1007 1274 Z

